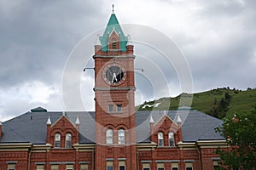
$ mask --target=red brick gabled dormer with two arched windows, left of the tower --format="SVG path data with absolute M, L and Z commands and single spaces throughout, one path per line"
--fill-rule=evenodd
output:
M 54 124 L 51 123 L 50 116 L 47 121 L 46 143 L 53 148 L 73 148 L 73 144 L 79 143 L 79 117 L 75 125 L 65 114 L 63 114 Z

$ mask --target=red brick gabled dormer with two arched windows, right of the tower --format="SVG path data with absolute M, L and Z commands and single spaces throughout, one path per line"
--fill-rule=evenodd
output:
M 182 141 L 181 121 L 178 116 L 174 122 L 169 116 L 164 114 L 158 122 L 150 118 L 151 141 L 159 147 L 176 146 L 177 142 Z

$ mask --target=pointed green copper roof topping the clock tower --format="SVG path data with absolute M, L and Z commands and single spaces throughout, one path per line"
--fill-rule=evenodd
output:
M 102 43 L 102 51 L 108 51 L 108 34 L 111 34 L 113 30 L 119 34 L 120 50 L 126 51 L 128 38 L 125 37 L 125 34 L 122 31 L 122 28 L 119 25 L 119 21 L 117 20 L 115 14 L 111 14 L 110 19 L 108 20 L 108 26 L 106 27 L 103 36 L 100 37 L 100 41 Z

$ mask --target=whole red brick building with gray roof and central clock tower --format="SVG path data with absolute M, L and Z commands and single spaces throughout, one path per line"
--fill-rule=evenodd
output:
M 135 111 L 133 44 L 111 14 L 96 37 L 96 111 L 38 107 L 0 124 L 0 170 L 212 170 L 221 120 L 188 107 Z

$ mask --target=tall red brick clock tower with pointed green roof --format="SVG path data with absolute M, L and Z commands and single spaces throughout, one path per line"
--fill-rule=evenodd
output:
M 113 13 L 96 37 L 96 170 L 137 169 L 133 44 Z

